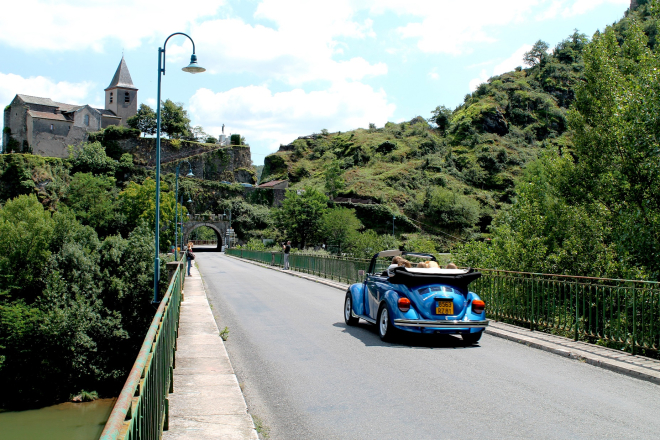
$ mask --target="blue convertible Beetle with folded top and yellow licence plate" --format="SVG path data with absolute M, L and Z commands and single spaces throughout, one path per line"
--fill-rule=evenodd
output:
M 459 334 L 468 344 L 477 342 L 488 325 L 486 304 L 468 290 L 468 284 L 481 273 L 393 266 L 383 271 L 395 256 L 435 261 L 433 255 L 398 250 L 374 255 L 365 281 L 353 284 L 346 292 L 346 324 L 356 325 L 360 319 L 376 324 L 383 340 L 405 330 Z

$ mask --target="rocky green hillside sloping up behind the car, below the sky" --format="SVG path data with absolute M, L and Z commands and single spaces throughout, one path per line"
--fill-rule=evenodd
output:
M 527 163 L 570 148 L 566 112 L 586 43 L 577 31 L 551 54 L 538 42 L 528 68 L 490 78 L 428 119 L 300 137 L 266 157 L 261 182 L 288 179 L 293 188 L 371 199 L 423 231 L 477 237 L 511 203 Z

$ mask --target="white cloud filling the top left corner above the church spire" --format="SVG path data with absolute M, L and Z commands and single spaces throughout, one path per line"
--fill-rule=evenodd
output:
M 109 39 L 126 49 L 165 30 L 188 29 L 215 15 L 223 0 L 22 0 L 3 2 L 0 42 L 21 49 L 102 51 Z

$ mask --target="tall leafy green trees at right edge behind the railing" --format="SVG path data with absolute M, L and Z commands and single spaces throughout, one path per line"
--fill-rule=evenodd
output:
M 528 167 L 492 244 L 461 246 L 462 262 L 660 278 L 659 24 L 660 2 L 645 2 L 584 48 L 571 146 Z

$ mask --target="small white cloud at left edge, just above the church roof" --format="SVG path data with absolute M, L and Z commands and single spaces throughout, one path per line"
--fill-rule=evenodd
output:
M 4 108 L 17 94 L 50 98 L 67 104 L 86 104 L 94 87 L 92 82 L 56 82 L 43 76 L 23 78 L 0 72 L 0 105 Z

